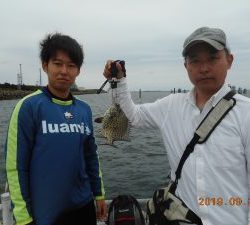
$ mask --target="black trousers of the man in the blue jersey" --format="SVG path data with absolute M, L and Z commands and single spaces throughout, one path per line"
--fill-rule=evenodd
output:
M 96 225 L 94 201 L 81 208 L 62 213 L 53 225 Z

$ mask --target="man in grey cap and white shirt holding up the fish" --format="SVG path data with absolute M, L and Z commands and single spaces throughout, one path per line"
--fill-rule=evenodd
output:
M 217 28 L 195 30 L 185 40 L 182 55 L 193 89 L 142 105 L 132 102 L 127 78 L 116 64 L 120 71 L 117 102 L 133 126 L 161 131 L 172 180 L 197 126 L 230 91 L 225 80 L 233 63 L 226 35 Z M 107 61 L 103 73 L 108 79 L 112 62 Z M 234 98 L 236 105 L 207 141 L 195 145 L 176 189 L 204 225 L 250 224 L 250 99 L 239 94 Z

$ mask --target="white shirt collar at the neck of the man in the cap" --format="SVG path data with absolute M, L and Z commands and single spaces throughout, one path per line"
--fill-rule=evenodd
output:
M 210 97 L 210 99 L 206 102 L 210 103 L 213 107 L 231 90 L 227 83 L 224 83 L 223 86 Z M 195 89 L 194 87 L 192 90 L 187 94 L 186 100 L 196 106 L 196 99 L 195 99 Z

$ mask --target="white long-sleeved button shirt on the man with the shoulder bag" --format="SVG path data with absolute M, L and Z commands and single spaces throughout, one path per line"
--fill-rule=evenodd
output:
M 126 78 L 115 91 L 133 126 L 160 129 L 174 180 L 197 126 L 230 88 L 225 84 L 201 112 L 193 91 L 142 105 L 131 100 Z M 186 160 L 176 190 L 204 225 L 250 225 L 250 99 L 239 94 L 234 98 L 235 107 Z

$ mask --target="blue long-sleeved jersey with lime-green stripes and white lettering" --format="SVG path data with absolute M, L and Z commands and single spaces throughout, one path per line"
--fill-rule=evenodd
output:
M 6 171 L 18 225 L 50 225 L 63 211 L 104 199 L 92 112 L 38 90 L 16 105 L 9 124 Z

